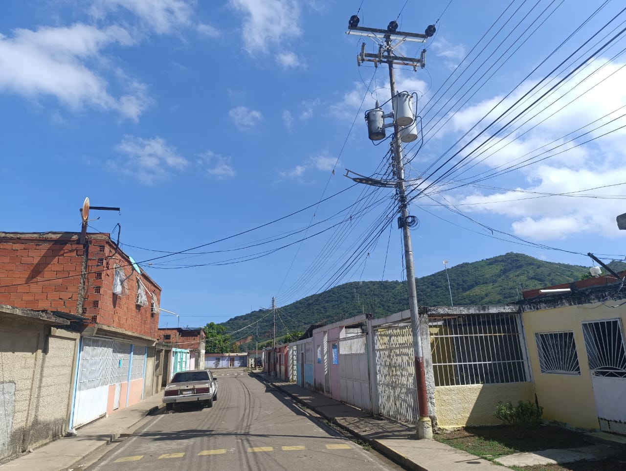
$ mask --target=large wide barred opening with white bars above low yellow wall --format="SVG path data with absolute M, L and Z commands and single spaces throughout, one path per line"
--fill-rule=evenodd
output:
M 433 316 L 435 386 L 528 381 L 519 314 Z

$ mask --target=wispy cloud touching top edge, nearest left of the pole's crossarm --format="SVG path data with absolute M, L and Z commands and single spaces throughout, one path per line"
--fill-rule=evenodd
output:
M 301 33 L 300 8 L 294 0 L 230 0 L 230 4 L 245 14 L 242 39 L 249 53 L 267 51 Z

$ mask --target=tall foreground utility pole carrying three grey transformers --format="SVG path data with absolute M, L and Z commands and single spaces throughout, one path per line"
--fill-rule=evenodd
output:
M 406 264 L 406 282 L 409 293 L 409 311 L 411 313 L 411 330 L 413 331 L 413 353 L 415 376 L 417 386 L 417 402 L 419 422 L 417 427 L 418 438 L 433 438 L 433 427 L 428 414 L 428 397 L 426 395 L 426 375 L 424 373 L 424 354 L 421 341 L 421 326 L 419 322 L 418 296 L 415 286 L 415 271 L 413 267 L 413 248 L 411 246 L 410 227 L 417 223 L 414 216 L 409 215 L 408 201 L 406 199 L 406 186 L 404 182 L 404 160 L 401 142 L 412 142 L 417 138 L 416 116 L 411 110 L 412 95 L 404 91 L 396 92 L 394 77 L 394 64 L 412 66 L 417 70 L 418 66 L 424 68 L 426 49 L 422 50 L 419 58 L 407 58 L 396 52 L 399 44 L 404 41 L 423 43 L 435 33 L 434 25 L 428 26 L 424 34 L 404 33 L 397 31 L 398 23 L 390 21 L 387 29 L 363 28 L 359 25 L 359 17 L 353 15 L 348 23 L 347 34 L 357 34 L 372 38 L 379 44 L 377 54 L 366 53 L 365 43 L 362 43 L 361 53 L 357 56 L 357 63 L 373 62 L 377 67 L 380 63 L 386 63 L 389 68 L 389 86 L 391 88 L 392 113 L 385 115 L 376 103 L 376 108 L 366 112 L 367 128 L 371 140 L 381 140 L 385 137 L 385 128 L 392 127 L 394 135 L 391 140 L 391 152 L 393 153 L 393 170 L 395 182 L 375 179 L 353 179 L 357 182 L 375 186 L 395 187 L 399 198 L 398 228 L 403 230 L 404 262 Z M 393 118 L 393 124 L 385 124 L 384 118 Z M 347 171 L 350 172 L 349 170 Z M 346 173 L 346 176 L 348 176 Z M 360 177 L 360 175 L 359 175 Z

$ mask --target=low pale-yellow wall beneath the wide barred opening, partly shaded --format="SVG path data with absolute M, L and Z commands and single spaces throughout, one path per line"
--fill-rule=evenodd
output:
M 493 417 L 498 401 L 535 402 L 533 383 L 437 386 L 434 398 L 441 428 L 500 425 L 500 420 Z

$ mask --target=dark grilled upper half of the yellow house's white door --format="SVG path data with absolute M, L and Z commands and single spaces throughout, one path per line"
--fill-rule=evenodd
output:
M 626 349 L 620 320 L 585 322 L 582 328 L 592 375 L 626 378 Z

